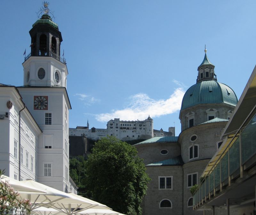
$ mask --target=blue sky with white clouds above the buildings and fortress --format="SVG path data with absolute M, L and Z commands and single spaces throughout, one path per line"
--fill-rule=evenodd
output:
M 239 98 L 255 66 L 254 0 L 50 1 L 67 59 L 69 127 L 144 120 L 180 133 L 184 92 L 207 56 Z M 1 81 L 23 85 L 23 52 L 42 1 L 1 2 Z M 61 51 L 61 53 L 62 53 Z

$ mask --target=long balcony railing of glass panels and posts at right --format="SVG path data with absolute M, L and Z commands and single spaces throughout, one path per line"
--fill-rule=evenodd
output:
M 255 113 L 256 106 L 251 113 Z M 223 152 L 217 159 L 213 159 L 208 166 L 212 166 L 196 189 L 193 195 L 193 208 L 196 210 L 204 206 L 209 200 L 220 196 L 225 189 L 233 186 L 233 182 L 240 178 L 244 179 L 248 170 L 256 166 L 256 114 L 248 124 L 248 119 L 240 126 L 238 131 L 229 135 L 229 143 L 224 144 Z M 246 126 L 245 126 L 246 125 Z M 229 139 L 228 137 L 228 139 Z M 226 142 L 227 143 L 227 142 Z M 247 173 L 246 173 L 247 172 Z M 249 175 L 248 175 L 249 176 Z

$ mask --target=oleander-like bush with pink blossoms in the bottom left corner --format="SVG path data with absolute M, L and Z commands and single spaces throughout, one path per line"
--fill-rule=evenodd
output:
M 25 214 L 29 211 L 28 199 L 19 199 L 20 194 L 13 190 L 8 180 L 3 178 L 4 171 L 0 170 L 0 215 Z

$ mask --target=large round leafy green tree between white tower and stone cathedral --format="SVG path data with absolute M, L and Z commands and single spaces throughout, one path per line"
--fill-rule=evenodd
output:
M 140 215 L 149 180 L 135 147 L 115 137 L 99 140 L 88 156 L 87 194 L 114 211 Z

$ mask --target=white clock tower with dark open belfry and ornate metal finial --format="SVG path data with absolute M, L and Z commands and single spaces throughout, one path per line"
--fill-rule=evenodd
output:
M 69 191 L 69 139 L 66 60 L 60 56 L 61 32 L 47 2 L 32 25 L 31 53 L 22 63 L 24 84 L 18 87 L 26 107 L 43 131 L 36 143 L 36 181 Z

